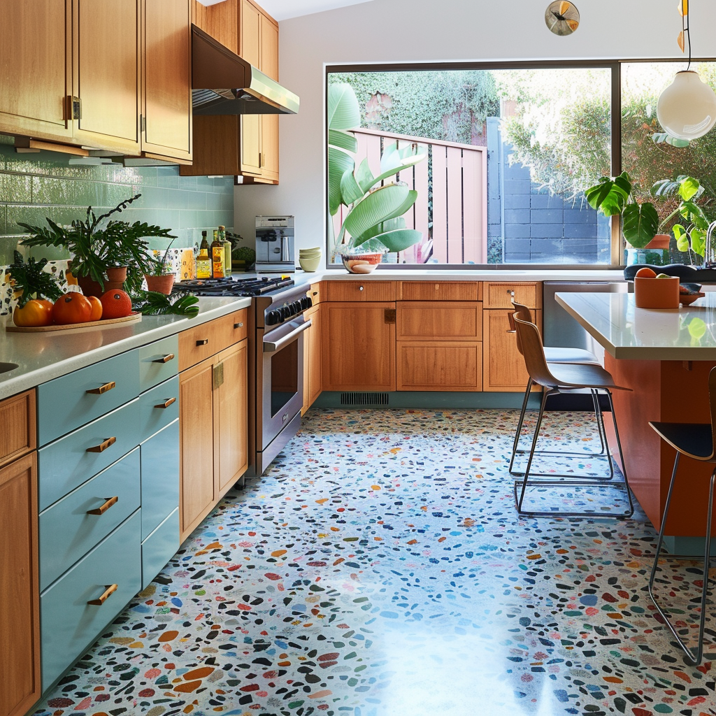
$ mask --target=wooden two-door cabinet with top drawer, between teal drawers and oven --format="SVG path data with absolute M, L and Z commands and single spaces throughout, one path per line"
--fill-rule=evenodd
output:
M 236 320 L 238 314 L 243 321 Z M 221 334 L 226 319 L 245 325 L 246 309 L 191 331 Z M 182 541 L 248 467 L 248 348 L 245 332 L 239 336 L 238 342 L 180 373 Z M 183 345 L 187 343 L 180 336 L 180 365 L 187 361 Z

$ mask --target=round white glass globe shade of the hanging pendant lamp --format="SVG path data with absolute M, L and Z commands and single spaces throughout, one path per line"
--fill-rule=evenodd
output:
M 716 95 L 693 70 L 677 72 L 659 96 L 657 119 L 677 139 L 703 137 L 716 124 Z

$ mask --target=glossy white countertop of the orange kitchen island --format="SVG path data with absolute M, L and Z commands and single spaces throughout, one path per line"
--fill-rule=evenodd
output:
M 678 309 L 638 309 L 634 294 L 555 296 L 614 358 L 716 360 L 716 292 Z

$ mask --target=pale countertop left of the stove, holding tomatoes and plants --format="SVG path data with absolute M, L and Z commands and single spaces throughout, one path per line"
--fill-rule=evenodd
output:
M 141 321 L 47 333 L 0 332 L 0 364 L 18 367 L 0 373 L 0 400 L 73 370 L 143 346 L 251 306 L 247 298 L 200 298 L 199 314 L 142 316 Z M 11 316 L 6 321 L 12 321 Z

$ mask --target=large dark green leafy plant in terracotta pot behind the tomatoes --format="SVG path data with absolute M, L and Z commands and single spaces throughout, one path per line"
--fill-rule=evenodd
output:
M 62 246 L 72 254 L 72 274 L 86 295 L 99 296 L 105 290 L 105 272 L 112 266 L 128 266 L 130 281 L 134 283 L 138 277 L 150 268 L 147 255 L 148 236 L 175 238 L 170 229 L 150 226 L 145 222 L 118 221 L 110 216 L 127 208 L 133 201 L 140 198 L 136 194 L 120 202 L 105 214 L 96 216 L 92 207 L 87 207 L 84 221 L 75 219 L 69 226 L 60 226 L 47 218 L 46 226 L 32 226 L 18 222 L 19 226 L 31 236 L 24 238 L 24 246 Z M 110 219 L 109 221 L 106 221 Z

